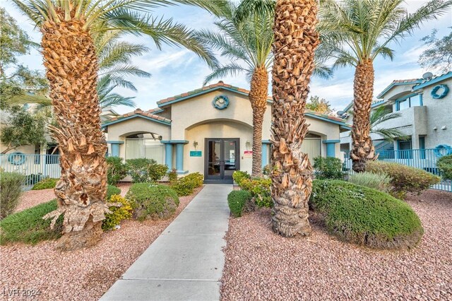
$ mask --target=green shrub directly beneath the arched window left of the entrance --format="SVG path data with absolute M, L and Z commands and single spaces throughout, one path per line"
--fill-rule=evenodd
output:
M 157 164 L 155 160 L 146 158 L 126 160 L 126 167 L 135 183 L 157 182 L 168 171 L 167 165 Z

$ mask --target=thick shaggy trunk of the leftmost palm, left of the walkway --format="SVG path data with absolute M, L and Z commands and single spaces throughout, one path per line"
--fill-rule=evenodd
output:
M 64 250 L 89 247 L 102 235 L 107 176 L 107 143 L 100 128 L 97 99 L 97 57 L 83 21 L 47 21 L 42 25 L 42 54 L 50 98 L 58 126 L 50 128 L 59 143 L 61 178 L 54 191 L 58 209 L 44 218 L 64 214 Z

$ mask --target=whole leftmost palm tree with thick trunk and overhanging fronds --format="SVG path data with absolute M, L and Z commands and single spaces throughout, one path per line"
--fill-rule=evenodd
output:
M 93 35 L 122 30 L 145 34 L 157 47 L 182 45 L 213 64 L 213 56 L 194 33 L 172 20 L 153 18 L 145 11 L 166 4 L 194 4 L 220 13 L 220 1 L 99 1 L 13 0 L 42 33 L 42 54 L 50 83 L 57 127 L 52 136 L 59 143 L 61 178 L 54 191 L 58 208 L 44 216 L 64 214 L 61 249 L 87 247 L 100 240 L 101 223 L 108 212 L 105 153 L 107 143 L 100 129 L 97 95 L 99 69 Z M 99 26 L 98 24 L 102 24 Z

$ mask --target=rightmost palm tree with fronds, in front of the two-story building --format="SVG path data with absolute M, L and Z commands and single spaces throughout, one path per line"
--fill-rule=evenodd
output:
M 403 0 L 321 1 L 321 47 L 335 59 L 334 67 L 355 67 L 353 85 L 352 151 L 355 172 L 364 171 L 367 160 L 375 160 L 370 138 L 370 111 L 374 93 L 374 59 L 393 59 L 391 42 L 400 42 L 415 28 L 448 11 L 451 0 L 432 0 L 408 14 Z

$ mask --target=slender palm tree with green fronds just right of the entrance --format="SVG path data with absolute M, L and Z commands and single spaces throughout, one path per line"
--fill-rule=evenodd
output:
M 229 64 L 215 66 L 204 85 L 214 78 L 245 73 L 250 80 L 249 100 L 253 110 L 252 175 L 262 175 L 262 124 L 268 95 L 268 71 L 273 64 L 274 0 L 242 0 L 239 6 L 230 2 L 220 20 L 214 24 L 218 32 L 203 30 L 199 39 L 221 55 Z M 314 75 L 329 78 L 331 70 L 324 65 L 324 56 L 316 57 Z

